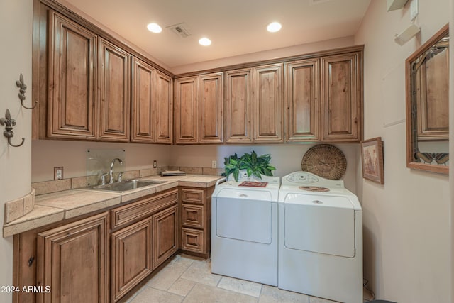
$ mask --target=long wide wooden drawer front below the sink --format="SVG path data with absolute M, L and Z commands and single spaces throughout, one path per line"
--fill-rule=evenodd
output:
M 178 202 L 178 189 L 157 194 L 139 202 L 117 207 L 111 210 L 112 229 L 131 221 L 144 219 L 160 209 L 165 209 Z

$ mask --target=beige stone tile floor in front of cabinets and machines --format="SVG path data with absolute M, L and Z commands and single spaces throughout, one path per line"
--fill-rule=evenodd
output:
M 333 303 L 277 287 L 211 273 L 207 260 L 176 255 L 128 303 Z

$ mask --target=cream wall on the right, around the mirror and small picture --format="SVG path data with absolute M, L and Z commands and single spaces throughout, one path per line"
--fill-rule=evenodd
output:
M 386 2 L 371 1 L 355 35 L 355 43 L 365 44 L 365 139 L 384 140 L 384 186 L 358 182 L 365 278 L 379 299 L 450 302 L 448 176 L 406 168 L 404 121 L 404 62 L 448 23 L 450 0 L 419 0 L 421 33 L 404 46 L 394 35 L 411 24 L 410 1 L 388 13 Z

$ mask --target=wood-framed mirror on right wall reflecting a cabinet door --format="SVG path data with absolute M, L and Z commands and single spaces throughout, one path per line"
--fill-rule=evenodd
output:
M 448 175 L 449 26 L 406 59 L 406 166 Z

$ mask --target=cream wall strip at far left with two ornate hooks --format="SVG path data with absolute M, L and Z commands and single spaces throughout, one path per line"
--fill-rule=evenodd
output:
M 6 109 L 16 119 L 10 147 L 0 127 L 0 224 L 4 224 L 4 204 L 25 196 L 31 190 L 31 111 L 21 108 L 16 80 L 22 73 L 28 89 L 26 104 L 31 104 L 32 0 L 0 0 L 0 117 Z M 5 45 L 8 45 L 6 47 Z M 11 285 L 13 277 L 13 238 L 0 238 L 0 285 Z M 11 302 L 11 294 L 0 292 L 0 302 Z

